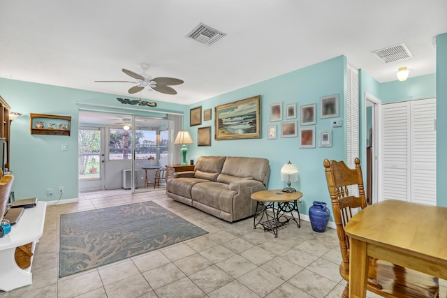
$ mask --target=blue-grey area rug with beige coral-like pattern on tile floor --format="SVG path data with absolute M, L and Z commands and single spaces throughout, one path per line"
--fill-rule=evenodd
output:
M 154 202 L 61 215 L 59 276 L 154 251 L 207 231 Z

